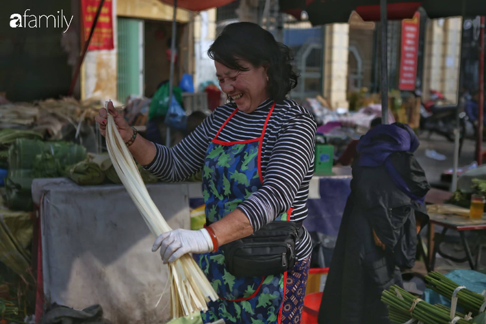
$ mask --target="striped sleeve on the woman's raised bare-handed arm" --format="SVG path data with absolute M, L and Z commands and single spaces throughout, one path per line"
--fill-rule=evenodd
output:
M 180 182 L 201 170 L 211 141 L 209 129 L 213 119 L 213 114 L 207 116 L 194 132 L 171 149 L 155 144 L 155 158 L 144 169 L 164 182 Z

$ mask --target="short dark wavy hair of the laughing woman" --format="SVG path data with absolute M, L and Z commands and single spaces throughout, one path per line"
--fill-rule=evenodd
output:
M 298 75 L 290 64 L 294 60 L 291 49 L 255 23 L 227 25 L 209 47 L 207 55 L 239 71 L 248 71 L 239 60 L 246 60 L 253 66 L 267 66 L 268 93 L 274 101 L 283 101 L 297 86 Z

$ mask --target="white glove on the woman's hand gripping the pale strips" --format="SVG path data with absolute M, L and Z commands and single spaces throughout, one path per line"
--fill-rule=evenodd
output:
M 213 251 L 213 241 L 207 229 L 191 231 L 175 229 L 159 235 L 152 247 L 152 252 L 160 247 L 160 256 L 164 264 L 174 262 L 186 253 L 207 253 Z

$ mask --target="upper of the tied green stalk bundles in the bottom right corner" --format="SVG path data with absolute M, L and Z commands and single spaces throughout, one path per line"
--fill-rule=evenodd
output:
M 459 287 L 458 284 L 451 279 L 438 272 L 431 272 L 425 276 L 425 280 L 428 283 L 427 288 L 438 292 L 440 295 L 452 299 L 452 292 Z M 472 312 L 475 316 L 478 313 L 484 312 L 486 303 L 485 297 L 477 292 L 463 288 L 457 292 L 457 304 L 462 306 L 466 312 Z M 481 309 L 482 308 L 482 309 Z

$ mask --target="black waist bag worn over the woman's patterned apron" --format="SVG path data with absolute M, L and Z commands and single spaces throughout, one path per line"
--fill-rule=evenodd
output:
M 237 277 L 277 275 L 292 269 L 295 246 L 303 227 L 290 221 L 274 221 L 257 232 L 222 246 L 225 265 Z

